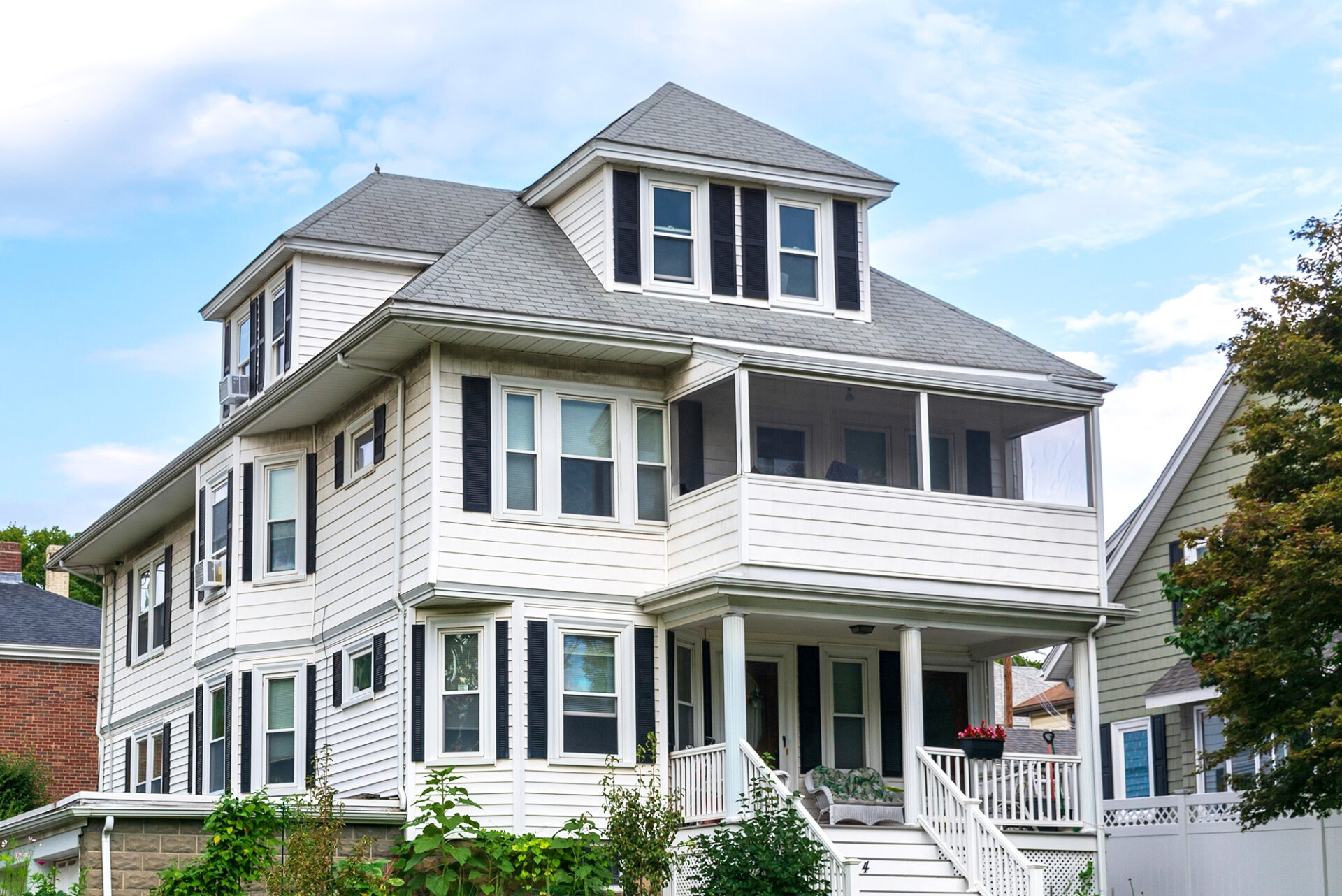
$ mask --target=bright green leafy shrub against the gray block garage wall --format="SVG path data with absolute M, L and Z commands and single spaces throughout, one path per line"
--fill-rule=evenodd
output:
M 205 852 L 187 865 L 158 872 L 152 896 L 242 896 L 275 861 L 279 817 L 266 791 L 246 799 L 225 793 L 205 820 Z

